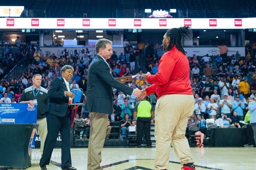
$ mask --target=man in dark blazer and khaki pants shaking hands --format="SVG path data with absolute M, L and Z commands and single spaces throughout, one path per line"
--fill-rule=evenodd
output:
M 111 74 L 106 60 L 111 58 L 112 44 L 107 39 L 96 43 L 97 56 L 88 68 L 86 108 L 91 114 L 91 129 L 88 145 L 88 170 L 102 170 L 100 167 L 101 150 L 104 145 L 108 114 L 113 112 L 112 87 L 128 94 L 140 97 L 140 90 L 118 82 Z

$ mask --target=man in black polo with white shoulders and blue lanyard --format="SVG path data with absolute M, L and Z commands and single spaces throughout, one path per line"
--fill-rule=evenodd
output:
M 40 151 L 42 155 L 45 138 L 47 136 L 47 122 L 43 109 L 47 101 L 48 90 L 40 86 L 42 82 L 42 76 L 40 74 L 35 74 L 32 81 L 33 86 L 26 88 L 24 92 L 22 92 L 19 103 L 29 103 L 32 106 L 37 104 L 36 123 L 39 124 L 37 133 L 40 135 L 41 139 Z

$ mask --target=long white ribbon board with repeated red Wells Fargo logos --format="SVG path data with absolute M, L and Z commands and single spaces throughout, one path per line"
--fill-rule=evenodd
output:
M 190 26 L 192 29 L 256 28 L 256 18 L 10 18 L 21 10 L 0 8 L 0 29 L 171 29 Z M 11 15 L 12 16 L 12 15 Z M 19 16 L 18 16 L 19 17 Z M 49 24 L 51 23 L 51 24 Z

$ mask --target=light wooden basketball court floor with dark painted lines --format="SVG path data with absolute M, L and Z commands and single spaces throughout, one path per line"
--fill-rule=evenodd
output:
M 72 166 L 86 170 L 87 148 L 71 148 Z M 256 148 L 191 148 L 196 170 L 255 170 Z M 155 148 L 103 148 L 101 166 L 104 170 L 154 170 Z M 39 149 L 33 149 L 31 167 L 40 170 Z M 171 148 L 168 170 L 180 170 L 181 166 Z M 61 149 L 54 149 L 48 170 L 61 170 Z M 1 168 L 7 170 L 14 168 Z

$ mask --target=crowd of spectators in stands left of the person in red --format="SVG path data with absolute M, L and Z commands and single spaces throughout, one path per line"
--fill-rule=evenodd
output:
M 80 88 L 84 95 L 86 95 L 88 66 L 94 58 L 94 56 L 90 53 L 90 51 L 88 51 L 87 48 L 86 50 L 82 50 L 81 53 L 74 53 L 73 56 L 69 55 L 68 51 L 64 49 L 60 56 L 55 56 L 54 53 L 50 55 L 42 54 L 42 51 L 40 50 L 40 46 L 38 46 L 38 44 L 32 44 L 31 46 L 28 46 L 25 42 L 23 42 L 23 40 L 17 44 L 19 44 L 19 47 L 17 46 L 18 50 L 13 51 L 13 54 L 15 55 L 12 55 L 10 53 L 10 50 L 8 50 L 8 46 L 6 46 L 3 54 L 5 56 L 6 54 L 14 56 L 14 63 L 17 63 L 21 59 L 24 59 L 24 62 L 22 62 L 22 64 L 24 63 L 26 69 L 21 73 L 19 77 L 12 78 L 10 82 L 7 82 L 6 78 L 3 77 L 4 74 L 2 74 L 2 82 L 0 83 L 0 98 L 4 98 L 4 94 L 7 93 L 7 97 L 10 100 L 12 100 L 13 98 L 13 100 L 17 102 L 24 89 L 32 85 L 32 77 L 34 74 L 41 74 L 41 86 L 49 89 L 50 82 L 55 77 L 61 77 L 61 68 L 64 65 L 71 65 L 74 67 L 74 75 L 71 82 L 69 82 L 71 90 Z M 117 78 L 121 76 L 137 74 L 138 76 L 133 79 L 132 82 L 127 83 L 127 85 L 133 88 L 146 88 L 147 84 L 143 80 L 142 75 L 144 73 L 142 73 L 142 69 L 140 69 L 139 65 L 136 65 L 135 70 L 135 61 L 137 61 L 140 57 L 143 57 L 144 54 L 141 54 L 141 51 L 140 49 L 138 49 L 137 46 L 133 48 L 130 42 L 125 44 L 124 52 L 125 55 L 123 53 L 117 55 L 116 52 L 114 52 L 111 58 L 107 60 L 107 63 L 109 63 L 109 66 L 111 67 L 111 72 L 113 73 L 113 76 Z M 5 60 L 5 57 L 1 59 L 1 61 L 3 61 Z M 9 63 L 2 63 L 3 67 L 10 66 Z M 133 63 L 133 65 L 131 63 Z M 127 65 L 130 65 L 130 67 L 128 67 Z M 12 67 L 10 66 L 10 68 Z M 115 102 L 114 100 L 113 104 L 116 110 L 118 120 L 123 119 L 125 113 L 129 113 L 129 116 L 132 117 L 133 107 L 136 104 L 136 97 L 123 94 L 120 98 L 119 96 L 122 92 L 118 92 L 116 90 L 115 92 L 116 96 L 118 96 L 118 102 Z M 151 102 L 154 102 L 154 104 L 156 104 L 155 95 L 151 95 L 150 99 Z M 9 100 L 6 99 L 1 102 L 9 103 Z M 83 112 L 86 112 L 86 110 L 83 109 Z M 84 116 L 88 117 L 88 114 L 84 114 Z

